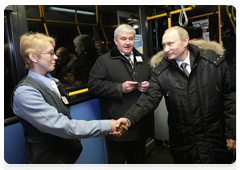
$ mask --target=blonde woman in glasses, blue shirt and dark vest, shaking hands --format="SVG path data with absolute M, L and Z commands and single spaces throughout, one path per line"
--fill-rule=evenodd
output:
M 63 85 L 49 74 L 57 60 L 54 47 L 54 39 L 41 33 L 20 39 L 29 71 L 15 87 L 11 102 L 24 129 L 28 169 L 70 169 L 82 151 L 78 139 L 123 133 L 115 120 L 71 119 Z

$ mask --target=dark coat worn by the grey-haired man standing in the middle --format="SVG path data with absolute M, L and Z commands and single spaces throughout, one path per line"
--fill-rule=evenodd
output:
M 122 93 L 122 84 L 125 81 L 148 81 L 151 76 L 149 59 L 133 49 L 134 58 L 141 56 L 143 62 L 136 62 L 135 75 L 129 61 L 115 46 L 110 52 L 100 56 L 89 73 L 88 88 L 99 96 L 103 119 L 118 119 L 138 100 L 141 92 L 136 85 L 130 93 Z M 142 123 L 143 124 L 143 123 Z M 143 133 L 143 131 L 141 131 Z M 136 126 L 124 133 L 121 137 L 109 135 L 115 141 L 139 140 L 141 135 Z

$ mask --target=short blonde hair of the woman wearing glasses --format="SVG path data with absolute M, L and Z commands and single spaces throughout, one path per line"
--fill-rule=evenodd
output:
M 55 47 L 55 40 L 42 33 L 26 33 L 20 38 L 20 52 L 25 63 L 25 68 L 33 68 L 33 62 L 29 59 L 29 53 L 37 56 L 42 52 L 46 42 L 50 42 Z

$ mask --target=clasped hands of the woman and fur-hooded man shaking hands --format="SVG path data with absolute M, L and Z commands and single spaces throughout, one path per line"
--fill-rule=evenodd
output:
M 118 120 L 109 120 L 111 124 L 110 135 L 121 136 L 124 134 L 129 127 L 128 120 L 126 118 L 120 118 Z

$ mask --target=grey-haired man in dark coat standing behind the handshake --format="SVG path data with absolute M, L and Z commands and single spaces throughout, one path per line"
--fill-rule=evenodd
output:
M 99 56 L 89 74 L 89 91 L 99 96 L 103 119 L 122 117 L 148 87 L 151 76 L 149 59 L 133 47 L 135 34 L 130 25 L 117 27 L 114 32 L 117 46 Z M 146 142 L 144 131 L 139 128 L 144 123 L 121 137 L 107 136 L 109 170 L 124 170 L 125 157 L 129 170 L 141 169 Z

